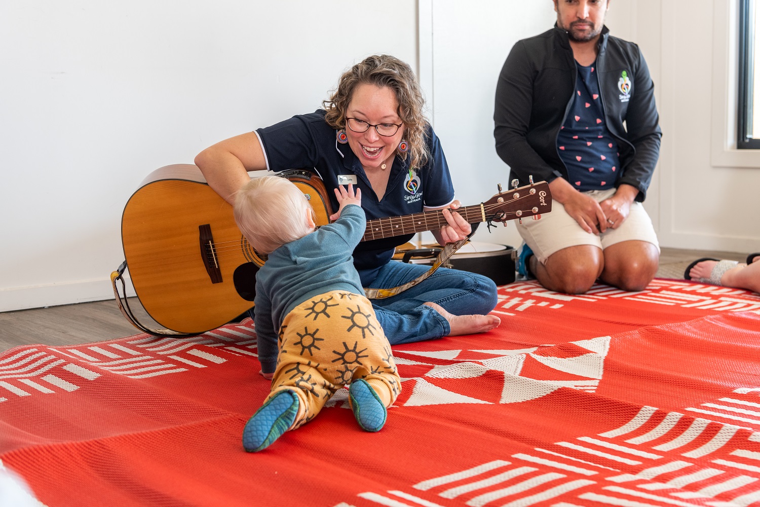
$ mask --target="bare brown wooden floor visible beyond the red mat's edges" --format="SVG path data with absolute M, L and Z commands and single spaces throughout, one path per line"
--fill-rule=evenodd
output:
M 657 277 L 682 278 L 686 266 L 701 257 L 744 261 L 746 255 L 746 252 L 662 249 Z M 145 325 L 160 328 L 147 317 L 136 298 L 129 301 Z M 122 316 L 113 300 L 0 313 L 0 351 L 27 344 L 83 344 L 139 332 Z

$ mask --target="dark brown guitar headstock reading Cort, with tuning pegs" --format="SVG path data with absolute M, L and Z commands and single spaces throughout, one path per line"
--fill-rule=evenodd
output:
M 483 202 L 487 220 L 503 223 L 524 217 L 535 217 L 538 220 L 540 214 L 552 211 L 552 192 L 549 191 L 549 183 L 534 183 L 532 177 L 530 180 L 530 185 L 504 192 L 502 192 L 502 185 L 499 185 L 499 193 Z M 513 180 L 513 184 L 516 182 L 516 179 Z

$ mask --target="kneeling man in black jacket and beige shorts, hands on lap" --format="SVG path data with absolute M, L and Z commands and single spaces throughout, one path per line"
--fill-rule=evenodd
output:
M 643 290 L 660 247 L 644 201 L 660 154 L 641 50 L 610 36 L 610 0 L 553 0 L 552 30 L 518 41 L 496 87 L 494 136 L 510 179 L 549 182 L 553 211 L 518 225 L 518 271 L 550 290 Z

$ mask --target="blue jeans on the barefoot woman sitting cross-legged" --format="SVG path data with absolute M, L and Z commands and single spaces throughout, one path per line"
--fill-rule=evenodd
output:
M 414 280 L 430 267 L 390 261 L 380 268 L 372 289 L 390 289 Z M 385 299 L 370 299 L 378 322 L 391 345 L 432 340 L 451 328 L 439 312 L 423 303 L 436 303 L 454 315 L 486 315 L 496 308 L 496 284 L 469 271 L 438 268 L 422 283 Z

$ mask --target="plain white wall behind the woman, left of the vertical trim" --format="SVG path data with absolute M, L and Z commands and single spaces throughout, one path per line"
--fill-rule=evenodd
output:
M 340 72 L 416 68 L 416 2 L 0 2 L 0 311 L 109 299 L 150 171 L 312 112 Z

